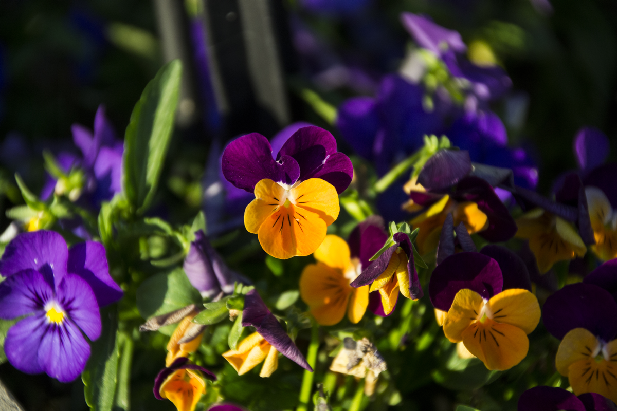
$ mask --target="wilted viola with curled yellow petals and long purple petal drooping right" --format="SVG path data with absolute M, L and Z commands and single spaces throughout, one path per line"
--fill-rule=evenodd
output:
M 260 376 L 268 377 L 278 368 L 280 352 L 300 367 L 313 372 L 307 360 L 283 330 L 274 314 L 270 312 L 257 291 L 251 290 L 244 296 L 242 327 L 255 327 L 256 332 L 244 338 L 238 348 L 223 352 L 238 375 L 249 372 L 264 361 Z

